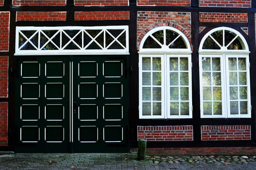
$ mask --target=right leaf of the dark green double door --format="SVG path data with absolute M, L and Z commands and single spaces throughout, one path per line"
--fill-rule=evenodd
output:
M 74 57 L 74 152 L 129 151 L 126 64 L 125 57 Z

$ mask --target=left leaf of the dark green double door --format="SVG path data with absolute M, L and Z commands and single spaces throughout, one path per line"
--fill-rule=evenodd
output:
M 69 152 L 69 57 L 17 57 L 15 152 Z

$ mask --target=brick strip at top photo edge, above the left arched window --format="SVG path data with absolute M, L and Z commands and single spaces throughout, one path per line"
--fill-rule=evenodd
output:
M 137 0 L 138 6 L 190 6 L 190 0 Z

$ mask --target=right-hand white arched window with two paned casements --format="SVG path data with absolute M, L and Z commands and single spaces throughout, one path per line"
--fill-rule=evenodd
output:
M 214 37 L 217 32 L 222 35 L 219 39 Z M 220 49 L 207 49 L 207 38 Z M 249 53 L 244 37 L 232 28 L 214 28 L 203 37 L 199 46 L 201 118 L 251 117 Z

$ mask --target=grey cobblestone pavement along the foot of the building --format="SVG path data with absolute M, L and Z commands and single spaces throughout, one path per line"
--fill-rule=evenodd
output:
M 0 156 L 1 170 L 256 170 L 256 164 L 154 163 L 137 161 L 136 153 L 17 153 Z

